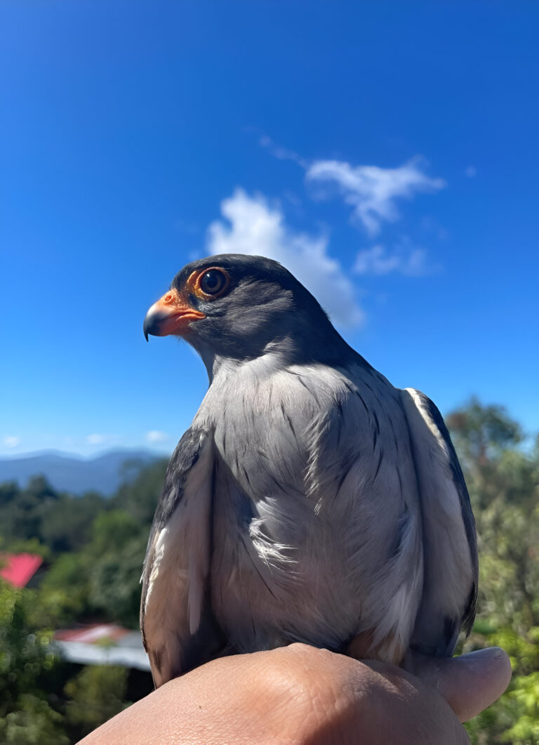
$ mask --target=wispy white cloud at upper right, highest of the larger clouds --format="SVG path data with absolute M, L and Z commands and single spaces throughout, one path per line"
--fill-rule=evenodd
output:
M 380 168 L 377 165 L 354 167 L 340 160 L 316 160 L 307 169 L 306 179 L 336 183 L 345 202 L 354 208 L 353 218 L 374 235 L 383 221 L 398 219 L 397 199 L 411 199 L 417 191 L 444 188 L 444 180 L 428 177 L 421 171 L 420 162 L 415 158 L 399 168 Z

